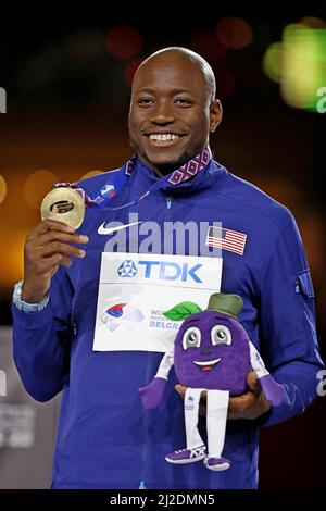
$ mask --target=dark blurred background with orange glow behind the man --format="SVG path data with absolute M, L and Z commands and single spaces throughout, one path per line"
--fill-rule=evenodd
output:
M 224 121 L 211 141 L 215 159 L 294 213 L 315 285 L 325 359 L 321 183 L 326 114 L 286 104 L 279 84 L 265 75 L 262 59 L 289 23 L 303 16 L 326 22 L 326 5 L 310 2 L 288 13 L 274 7 L 268 15 L 139 4 L 137 14 L 127 7 L 124 14 L 98 11 L 96 16 L 76 9 L 67 21 L 64 7 L 53 4 L 35 14 L 20 9 L 14 21 L 4 16 L 0 87 L 7 90 L 8 112 L 0 114 L 0 175 L 7 195 L 0 202 L 0 324 L 11 324 L 10 297 L 14 282 L 22 278 L 24 239 L 39 221 L 39 203 L 51 183 L 121 166 L 131 155 L 126 120 L 133 71 L 156 49 L 185 46 L 206 58 L 216 74 Z M 250 45 L 223 53 L 216 27 L 225 16 L 246 20 L 253 33 Z M 122 26 L 129 32 L 120 38 L 114 30 Z M 326 86 L 325 60 L 319 86 Z M 261 487 L 325 487 L 325 399 L 319 398 L 303 415 L 262 429 Z

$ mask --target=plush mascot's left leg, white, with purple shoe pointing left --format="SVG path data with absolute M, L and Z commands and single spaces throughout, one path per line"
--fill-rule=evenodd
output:
M 185 395 L 185 422 L 187 448 L 171 452 L 165 457 L 170 463 L 193 463 L 203 460 L 206 448 L 198 431 L 200 394 L 203 388 L 187 388 Z

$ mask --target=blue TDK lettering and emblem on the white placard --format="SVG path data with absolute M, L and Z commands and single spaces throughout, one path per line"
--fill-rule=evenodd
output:
M 175 263 L 163 261 L 138 261 L 138 270 L 136 264 L 128 260 L 124 261 L 117 269 L 121 277 L 134 277 L 141 269 L 143 270 L 143 278 L 160 278 L 161 281 L 180 281 L 189 279 L 196 283 L 202 283 L 197 272 L 202 264 L 195 264 L 189 267 L 188 263 Z

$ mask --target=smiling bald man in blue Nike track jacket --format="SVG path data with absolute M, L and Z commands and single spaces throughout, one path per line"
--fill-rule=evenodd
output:
M 24 282 L 12 308 L 14 357 L 35 399 L 46 401 L 63 389 L 54 488 L 254 488 L 258 427 L 302 412 L 315 396 L 322 362 L 300 235 L 288 210 L 211 159 L 209 136 L 221 119 L 214 75 L 201 57 L 183 48 L 152 54 L 133 84 L 129 136 L 137 158 L 80 184 L 95 197 L 111 175 L 124 178 L 110 213 L 88 208 L 80 235 L 45 221 L 27 236 Z M 222 291 L 243 299 L 240 321 L 286 396 L 272 409 L 249 373 L 248 391 L 230 399 L 223 456 L 233 464 L 225 472 L 164 461 L 184 444 L 176 381 L 171 378 L 156 411 L 143 411 L 138 394 L 162 353 L 137 350 L 137 334 L 133 351 L 92 350 L 101 252 L 108 250 L 103 234 L 109 222 L 133 224 L 127 213 L 160 226 L 222 222 L 223 229 L 205 238 L 222 247 Z M 123 229 L 127 241 L 137 228 Z M 227 241 L 229 233 L 238 241 Z M 197 256 L 205 239 L 198 240 Z M 164 244 L 154 253 L 164 253 Z M 172 253 L 177 247 L 172 245 Z M 180 254 L 189 253 L 187 242 Z M 181 385 L 176 389 L 185 392 Z

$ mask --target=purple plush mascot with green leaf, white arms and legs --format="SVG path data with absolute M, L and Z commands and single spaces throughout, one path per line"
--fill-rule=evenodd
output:
M 174 364 L 176 376 L 187 387 L 185 424 L 187 447 L 165 457 L 170 463 L 203 460 L 210 470 L 222 471 L 230 461 L 222 457 L 229 396 L 247 390 L 247 375 L 254 371 L 267 401 L 283 402 L 283 387 L 271 376 L 263 360 L 238 321 L 243 302 L 237 295 L 214 294 L 202 311 L 193 302 L 181 302 L 165 312 L 172 321 L 185 320 L 152 382 L 139 389 L 147 410 L 159 407 L 168 373 Z M 206 390 L 208 447 L 199 431 L 199 401 Z

